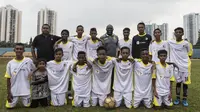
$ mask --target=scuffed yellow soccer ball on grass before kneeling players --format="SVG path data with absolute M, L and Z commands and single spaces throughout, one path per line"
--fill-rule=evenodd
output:
M 115 108 L 115 99 L 113 97 L 107 97 L 104 100 L 104 107 L 107 109 Z

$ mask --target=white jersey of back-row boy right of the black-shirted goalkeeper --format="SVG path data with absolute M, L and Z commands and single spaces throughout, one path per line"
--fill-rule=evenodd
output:
M 166 50 L 167 51 L 167 59 L 166 62 L 169 62 L 169 47 L 168 43 L 166 41 L 161 42 L 152 42 L 149 45 L 149 54 L 152 55 L 152 61 L 154 62 L 160 62 L 160 59 L 158 58 L 158 51 L 159 50 Z

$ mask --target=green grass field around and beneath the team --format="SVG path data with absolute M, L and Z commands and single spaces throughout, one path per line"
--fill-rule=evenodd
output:
M 106 110 L 101 107 L 90 108 L 75 108 L 71 106 L 71 102 L 63 107 L 47 107 L 47 108 L 24 108 L 22 104 L 18 104 L 15 109 L 7 110 L 5 108 L 6 101 L 6 79 L 4 78 L 6 63 L 8 60 L 0 59 L 0 112 L 155 112 L 154 109 L 145 109 L 140 107 L 139 109 L 126 109 L 124 106 L 116 108 L 114 110 Z M 200 112 L 200 60 L 192 61 L 192 84 L 189 85 L 189 107 L 183 107 L 182 105 L 174 106 L 170 110 L 159 110 L 156 112 Z M 173 99 L 175 98 L 175 86 L 173 87 Z

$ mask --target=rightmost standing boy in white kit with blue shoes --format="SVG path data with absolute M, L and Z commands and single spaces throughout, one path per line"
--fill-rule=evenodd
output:
M 183 106 L 188 106 L 187 102 L 187 91 L 188 84 L 191 84 L 190 79 L 190 66 L 191 60 L 189 58 L 190 54 L 192 54 L 192 49 L 190 48 L 190 44 L 182 39 L 184 34 L 184 30 L 181 27 L 178 27 L 174 30 L 174 34 L 176 40 L 168 41 L 169 49 L 170 49 L 170 61 L 174 62 L 178 67 L 178 74 L 175 74 L 176 78 L 176 100 L 174 101 L 175 105 L 180 104 L 180 91 L 181 91 L 181 83 L 183 83 Z

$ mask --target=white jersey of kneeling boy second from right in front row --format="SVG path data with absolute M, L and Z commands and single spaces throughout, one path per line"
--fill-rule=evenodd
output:
M 135 60 L 134 96 L 141 98 L 152 97 L 152 64 L 145 65 L 142 60 Z

